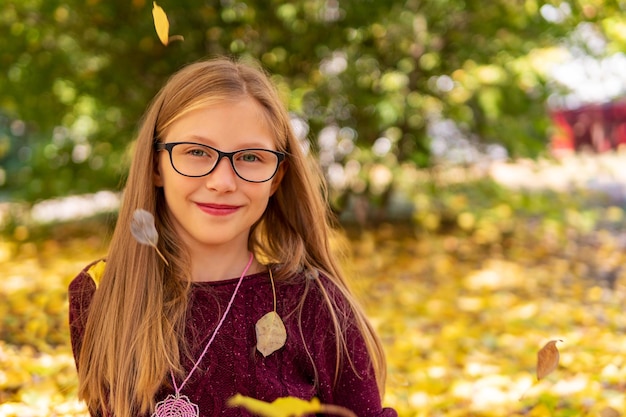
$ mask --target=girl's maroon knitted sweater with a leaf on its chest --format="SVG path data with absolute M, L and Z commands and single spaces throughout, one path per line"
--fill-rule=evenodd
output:
M 335 382 L 335 335 L 328 308 L 317 285 L 312 285 L 313 290 L 306 296 L 300 317 L 302 326 L 298 324 L 297 305 L 306 279 L 312 278 L 300 274 L 288 282 L 276 282 L 277 311 L 287 329 L 287 342 L 278 351 L 263 357 L 256 350 L 255 323 L 273 310 L 271 282 L 267 273 L 244 278 L 222 328 L 181 392 L 198 404 L 200 416 L 250 416 L 243 408 L 225 405 L 227 399 L 237 393 L 268 402 L 286 396 L 305 400 L 317 397 L 322 403 L 344 406 L 359 417 L 397 416 L 393 409 L 381 406 L 363 338 L 354 326 L 347 326 L 344 332 L 350 358 L 358 374 L 350 362 L 344 360 Z M 347 302 L 334 284 L 325 277 L 318 279 L 338 301 L 340 309 L 348 311 Z M 186 335 L 194 346 L 191 352 L 193 361 L 197 360 L 211 337 L 237 281 L 235 278 L 192 285 Z M 75 358 L 80 352 L 89 304 L 95 290 L 95 283 L 86 270 L 69 287 L 69 320 Z M 193 361 L 183 362 L 187 372 L 193 368 Z M 180 385 L 182 381 L 176 382 Z M 173 393 L 172 388 L 164 386 L 156 401 Z

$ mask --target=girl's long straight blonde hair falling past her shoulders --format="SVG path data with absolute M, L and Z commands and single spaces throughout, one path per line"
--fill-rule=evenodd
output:
M 199 106 L 246 97 L 264 108 L 276 147 L 287 154 L 286 172 L 252 227 L 249 249 L 275 265 L 278 281 L 302 270 L 318 270 L 329 277 L 356 317 L 382 395 L 383 350 L 331 251 L 332 218 L 323 176 L 302 151 L 265 72 L 257 64 L 219 58 L 188 65 L 174 74 L 143 117 L 106 269 L 90 306 L 78 355 L 79 396 L 94 413 L 130 417 L 150 412 L 169 371 L 184 372 L 181 357 L 186 351 L 180 342 L 188 308 L 190 260 L 165 210 L 163 191 L 154 185 L 153 143 L 175 120 Z M 159 249 L 169 266 L 154 250 L 132 238 L 130 220 L 139 208 L 155 214 Z M 329 304 L 339 352 L 337 371 L 341 361 L 350 361 L 341 331 L 343 315 L 320 280 L 306 281 L 307 290 L 317 285 Z

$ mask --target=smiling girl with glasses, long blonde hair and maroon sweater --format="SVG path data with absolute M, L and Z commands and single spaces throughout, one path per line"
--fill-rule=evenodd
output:
M 176 73 L 143 119 L 106 263 L 69 288 L 91 415 L 249 415 L 228 406 L 241 394 L 396 416 L 381 406 L 383 350 L 329 247 L 320 191 L 256 65 Z M 140 209 L 158 250 L 131 233 Z

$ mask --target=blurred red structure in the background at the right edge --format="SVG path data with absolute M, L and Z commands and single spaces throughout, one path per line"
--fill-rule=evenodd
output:
M 606 152 L 626 145 L 626 101 L 553 110 L 550 117 L 555 126 L 554 153 Z

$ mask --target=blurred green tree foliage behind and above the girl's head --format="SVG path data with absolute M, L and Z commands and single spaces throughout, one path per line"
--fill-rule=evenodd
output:
M 9 0 L 0 12 L 8 34 L 0 37 L 0 186 L 8 195 L 0 197 L 117 188 L 150 98 L 183 64 L 212 55 L 260 60 L 310 126 L 314 148 L 325 127 L 348 133 L 322 158 L 327 171 L 373 162 L 380 137 L 391 141 L 385 164 L 428 166 L 433 118 L 513 155 L 536 154 L 548 127 L 538 62 L 550 50 L 541 48 L 582 21 L 611 35 L 610 50 L 624 46 L 623 6 L 571 0 L 570 16 L 556 24 L 540 13 L 551 3 L 170 1 L 160 5 L 185 40 L 165 47 L 150 1 Z

